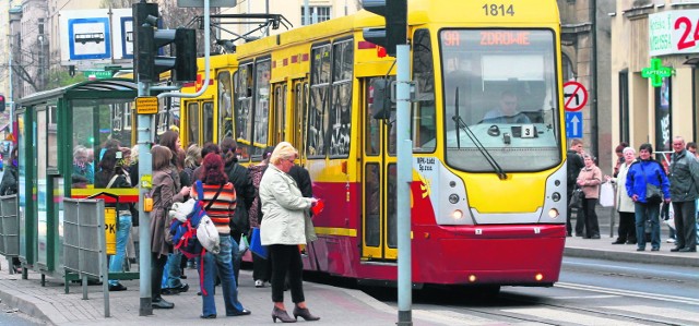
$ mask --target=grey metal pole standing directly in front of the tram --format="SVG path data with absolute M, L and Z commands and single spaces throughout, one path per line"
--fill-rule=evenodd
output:
M 410 134 L 410 46 L 398 45 L 396 140 L 398 140 L 398 325 L 413 325 L 413 275 L 411 250 L 411 182 L 413 180 L 413 142 Z

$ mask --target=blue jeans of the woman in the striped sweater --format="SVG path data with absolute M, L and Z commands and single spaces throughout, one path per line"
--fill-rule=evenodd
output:
M 235 315 L 242 311 L 242 304 L 238 301 L 238 286 L 233 275 L 233 249 L 238 251 L 238 244 L 230 236 L 221 236 L 221 252 L 214 255 L 206 252 L 204 255 L 204 287 L 201 289 L 201 299 L 203 302 L 202 314 L 204 316 L 216 314 L 216 303 L 214 301 L 214 281 L 216 280 L 216 271 L 221 277 L 221 288 L 223 291 L 223 301 L 226 304 L 226 315 Z M 201 264 L 201 262 L 200 262 Z M 205 293 L 205 294 L 204 294 Z

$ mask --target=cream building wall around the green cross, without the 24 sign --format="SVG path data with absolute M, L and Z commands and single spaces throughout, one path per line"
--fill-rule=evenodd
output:
M 617 0 L 612 19 L 612 137 L 621 137 L 620 124 L 624 120 L 619 113 L 621 81 L 619 72 L 628 71 L 629 95 L 629 130 L 630 144 L 635 148 L 643 143 L 651 143 L 653 148 L 671 150 L 674 136 L 697 141 L 697 89 L 699 81 L 695 65 L 687 64 L 690 59 L 699 61 L 699 52 L 670 53 L 651 57 L 649 15 L 667 11 L 697 10 L 697 4 L 685 4 L 682 0 Z M 691 2 L 696 3 L 696 2 Z M 659 128 L 663 117 L 657 116 L 656 88 L 649 79 L 642 77 L 642 70 L 650 67 L 651 58 L 661 60 L 663 67 L 674 69 L 671 81 L 670 129 Z M 662 89 L 662 88 L 660 88 Z M 660 121 L 660 122 L 659 122 Z

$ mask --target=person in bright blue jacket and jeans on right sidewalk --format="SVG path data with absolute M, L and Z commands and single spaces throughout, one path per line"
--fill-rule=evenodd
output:
M 663 198 L 670 203 L 670 181 L 660 162 L 652 159 L 653 145 L 639 147 L 639 159 L 631 164 L 626 174 L 626 192 L 635 203 L 637 251 L 645 250 L 645 220 L 651 224 L 651 251 L 660 250 L 660 204 Z M 647 197 L 648 184 L 655 185 L 663 193 L 663 198 Z

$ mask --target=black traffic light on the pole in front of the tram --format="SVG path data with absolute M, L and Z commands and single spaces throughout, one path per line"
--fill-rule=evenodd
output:
M 362 7 L 386 19 L 386 28 L 364 28 L 364 39 L 395 57 L 395 46 L 407 38 L 407 0 L 365 0 Z

